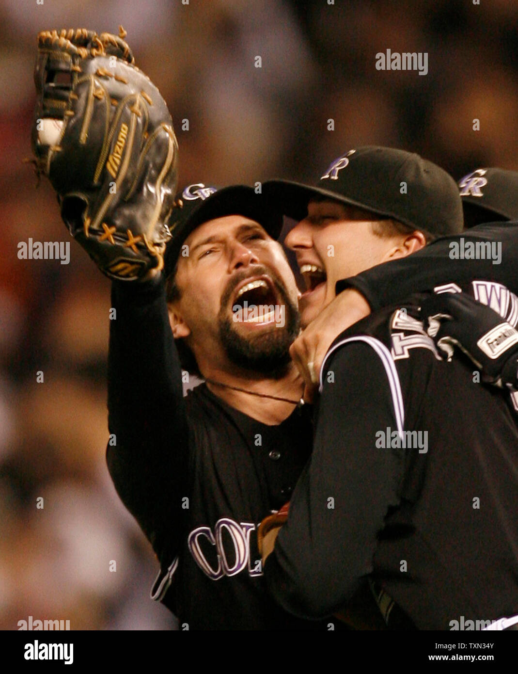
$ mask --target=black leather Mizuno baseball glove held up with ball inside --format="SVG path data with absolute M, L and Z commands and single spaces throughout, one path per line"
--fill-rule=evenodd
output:
M 178 144 L 124 37 L 38 34 L 32 150 L 71 235 L 106 276 L 135 280 L 164 265 Z

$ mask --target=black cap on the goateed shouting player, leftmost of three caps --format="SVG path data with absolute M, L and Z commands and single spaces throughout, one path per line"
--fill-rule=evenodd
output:
M 259 222 L 265 231 L 277 239 L 282 229 L 282 214 L 261 193 L 248 185 L 206 187 L 204 183 L 187 185 L 174 198 L 174 208 L 168 219 L 172 239 L 164 255 L 166 276 L 174 270 L 182 244 L 200 224 L 227 215 L 242 215 Z

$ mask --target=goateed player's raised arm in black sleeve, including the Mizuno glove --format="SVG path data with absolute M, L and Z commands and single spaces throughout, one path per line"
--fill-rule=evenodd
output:
M 160 270 L 178 145 L 166 102 L 124 37 L 123 28 L 40 32 L 32 149 L 69 232 L 114 280 L 108 466 L 155 550 L 170 557 L 160 522 L 171 526 L 179 511 L 170 494 L 184 454 L 169 450 L 186 446 L 187 424 Z

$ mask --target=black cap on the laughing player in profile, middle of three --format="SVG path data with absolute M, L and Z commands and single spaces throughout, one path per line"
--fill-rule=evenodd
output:
M 436 237 L 463 229 L 459 189 L 451 175 L 418 154 L 395 148 L 349 150 L 331 163 L 315 186 L 273 180 L 263 184 L 263 194 L 295 220 L 306 217 L 309 200 L 327 197 Z

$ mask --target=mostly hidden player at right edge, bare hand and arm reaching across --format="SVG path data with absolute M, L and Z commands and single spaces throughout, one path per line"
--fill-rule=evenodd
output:
M 501 168 L 478 168 L 459 180 L 459 193 L 469 231 L 455 237 L 441 237 L 415 255 L 366 269 L 337 281 L 334 286 L 327 284 L 325 308 L 311 326 L 304 326 L 302 315 L 306 329 L 290 353 L 306 381 L 304 398 L 313 397 L 317 384 L 315 373 L 331 342 L 342 330 L 366 317 L 371 310 L 402 301 L 412 293 L 434 288 L 436 292 L 449 293 L 463 290 L 515 323 L 518 173 Z M 476 279 L 480 282 L 472 284 Z M 455 309 L 461 311 L 459 307 Z M 465 319 L 472 324 L 469 314 Z M 461 321 L 457 325 L 461 325 Z M 307 363 L 312 364 L 311 372 Z

